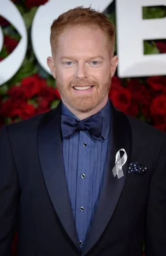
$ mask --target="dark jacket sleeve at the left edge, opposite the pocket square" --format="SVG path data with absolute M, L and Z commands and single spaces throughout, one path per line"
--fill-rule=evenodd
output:
M 11 256 L 17 226 L 19 185 L 9 141 L 8 126 L 0 131 L 0 256 Z

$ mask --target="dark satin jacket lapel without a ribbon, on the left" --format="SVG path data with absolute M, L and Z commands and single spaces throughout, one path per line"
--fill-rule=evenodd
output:
M 80 250 L 69 199 L 61 146 L 61 103 L 43 117 L 38 128 L 38 154 L 46 188 L 57 215 Z

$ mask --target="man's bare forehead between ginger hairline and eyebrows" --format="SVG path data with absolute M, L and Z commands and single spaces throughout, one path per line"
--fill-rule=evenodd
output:
M 94 26 L 72 26 L 66 28 L 59 37 L 57 55 L 104 55 L 106 36 Z

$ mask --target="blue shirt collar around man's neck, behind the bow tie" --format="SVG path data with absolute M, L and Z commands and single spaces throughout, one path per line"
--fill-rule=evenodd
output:
M 111 106 L 110 106 L 110 100 L 108 99 L 107 104 L 102 108 L 100 111 L 101 117 L 103 119 L 103 126 L 101 131 L 101 137 L 103 137 L 104 140 L 109 135 L 110 130 L 110 122 L 111 122 Z M 99 113 L 98 112 L 98 113 Z M 62 115 L 72 116 L 73 118 L 80 120 L 75 116 L 62 102 Z

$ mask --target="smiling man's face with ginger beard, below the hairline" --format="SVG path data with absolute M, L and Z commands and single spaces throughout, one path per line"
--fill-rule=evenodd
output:
M 115 70 L 112 72 L 106 37 L 100 29 L 91 26 L 66 28 L 60 35 L 50 69 L 61 99 L 70 109 L 88 112 L 102 102 L 103 106 L 106 104 Z

